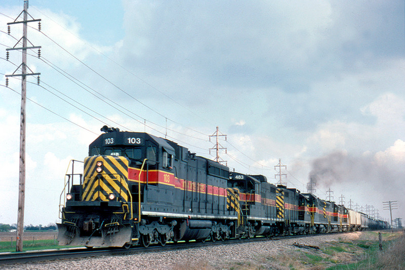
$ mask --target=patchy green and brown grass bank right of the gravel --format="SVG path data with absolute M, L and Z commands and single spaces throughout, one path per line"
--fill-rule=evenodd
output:
M 359 233 L 360 234 L 360 233 Z M 405 235 L 383 233 L 379 250 L 378 232 L 362 232 L 352 241 L 334 241 L 320 250 L 292 248 L 268 257 L 230 263 L 226 268 L 241 269 L 405 269 Z

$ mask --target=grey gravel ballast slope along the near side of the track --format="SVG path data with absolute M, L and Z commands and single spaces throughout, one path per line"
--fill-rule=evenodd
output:
M 288 254 L 297 250 L 294 243 L 322 247 L 334 241 L 352 241 L 360 232 L 200 246 L 189 249 L 151 251 L 130 255 L 60 259 L 46 262 L 2 265 L 3 269 L 228 269 L 230 265 Z

